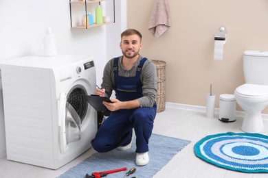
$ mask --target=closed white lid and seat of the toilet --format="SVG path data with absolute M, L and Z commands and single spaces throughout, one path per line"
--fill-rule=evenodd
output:
M 236 92 L 248 97 L 264 97 L 268 96 L 268 86 L 243 84 L 242 86 L 238 86 L 238 88 L 236 88 Z

